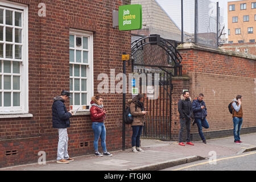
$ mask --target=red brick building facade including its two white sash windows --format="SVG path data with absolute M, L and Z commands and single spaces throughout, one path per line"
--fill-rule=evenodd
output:
M 15 70 L 14 65 L 19 61 L 20 88 L 14 90 L 15 79 L 12 78 L 10 94 L 1 95 L 4 101 L 1 99 L 0 167 L 37 162 L 39 151 L 46 152 L 47 160 L 56 159 L 58 133 L 52 128 L 52 98 L 60 95 L 63 89 L 73 88 L 73 100 L 70 101 L 73 104 L 70 105 L 89 105 L 90 97 L 98 93 L 97 86 L 101 82 L 97 80 L 98 75 L 110 75 L 110 69 L 115 69 L 116 73 L 122 72 L 121 55 L 130 52 L 131 38 L 129 31 L 113 28 L 112 12 L 129 3 L 125 0 L 1 1 L 3 20 L 0 26 L 6 31 L 1 42 L 5 47 L 2 50 L 3 59 L 10 56 L 11 62 L 7 64 L 1 59 L 4 62 L 1 75 L 5 76 L 5 68 Z M 15 40 L 11 39 L 10 31 Z M 22 31 L 23 38 L 18 34 L 19 31 Z M 74 45 L 79 37 L 82 38 L 82 48 Z M 16 41 L 19 38 L 22 43 Z M 9 48 L 11 44 L 15 44 L 15 49 Z M 16 57 L 20 53 L 16 51 L 18 46 L 22 46 L 23 50 L 20 60 Z M 13 51 L 13 54 L 15 52 L 15 56 L 7 50 Z M 75 77 L 77 70 L 81 73 Z M 83 77 L 82 74 L 86 73 Z M 9 74 L 13 74 L 13 77 L 17 75 L 14 71 Z M 80 84 L 70 85 L 77 80 Z M 2 85 L 6 84 L 9 82 Z M 22 85 L 25 85 L 24 88 Z M 76 93 L 76 87 L 84 92 Z M 21 100 L 18 103 L 20 107 L 17 107 L 19 110 L 5 112 L 3 106 L 8 101 L 7 96 L 11 96 L 10 106 L 14 107 L 17 103 L 12 101 L 17 94 Z M 109 151 L 121 150 L 122 94 L 103 96 L 104 106 L 109 111 L 105 123 L 107 147 Z M 68 108 L 69 103 L 66 106 Z M 71 127 L 68 129 L 68 150 L 71 156 L 93 154 L 94 137 L 88 111 L 82 110 L 71 118 Z M 129 138 L 127 134 L 127 146 Z

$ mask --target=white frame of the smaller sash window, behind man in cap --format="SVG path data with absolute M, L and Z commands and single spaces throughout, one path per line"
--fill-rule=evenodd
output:
M 82 109 L 82 105 L 75 105 L 75 93 L 80 93 L 80 104 L 81 104 L 81 93 L 86 93 L 86 106 L 89 106 L 90 105 L 90 99 L 93 97 L 93 32 L 90 32 L 90 31 L 82 31 L 82 30 L 76 30 L 76 29 L 73 29 L 73 28 L 70 28 L 69 29 L 69 36 L 70 35 L 74 35 L 74 48 L 72 47 L 69 47 L 69 50 L 70 49 L 74 49 L 75 51 L 76 50 L 81 50 L 81 63 L 76 63 L 75 59 L 76 59 L 76 56 L 74 54 L 74 62 L 70 62 L 69 60 L 69 67 L 70 65 L 72 64 L 72 76 L 69 74 L 69 79 L 73 79 L 73 82 L 72 82 L 72 90 L 71 88 L 69 88 L 69 92 L 71 94 L 71 97 L 72 97 L 72 100 L 70 100 L 69 102 L 69 105 L 72 105 L 72 110 L 75 110 L 77 109 L 77 107 L 80 107 L 79 111 L 88 111 L 88 109 Z M 82 37 L 82 36 L 85 36 L 85 37 L 88 37 L 88 63 L 82 63 L 82 46 L 81 46 L 81 49 L 80 48 L 77 48 L 76 49 L 76 36 L 79 36 L 79 37 Z M 75 52 L 74 51 L 74 52 Z M 85 65 L 86 66 L 86 91 L 75 91 L 75 75 L 74 75 L 74 66 L 75 65 Z M 81 73 L 81 66 L 80 66 L 80 73 Z M 80 74 L 81 75 L 81 74 Z M 78 78 L 78 77 L 76 77 Z M 84 77 L 83 77 L 84 78 Z M 81 80 L 81 76 L 79 76 L 79 79 Z M 80 81 L 80 90 L 81 90 L 81 81 Z M 72 101 L 72 103 L 71 103 Z

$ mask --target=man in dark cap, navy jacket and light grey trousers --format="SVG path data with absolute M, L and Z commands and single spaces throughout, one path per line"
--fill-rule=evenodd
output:
M 60 96 L 53 98 L 52 104 L 52 127 L 59 131 L 59 143 L 57 148 L 57 163 L 68 164 L 73 161 L 68 155 L 68 133 L 70 126 L 69 118 L 73 115 L 68 111 L 64 102 L 71 98 L 67 90 L 63 90 Z

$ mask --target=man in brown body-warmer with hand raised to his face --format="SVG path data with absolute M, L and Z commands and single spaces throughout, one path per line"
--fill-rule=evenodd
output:
M 234 124 L 234 143 L 240 144 L 242 143 L 240 140 L 240 131 L 243 122 L 243 110 L 242 110 L 242 96 L 237 95 L 236 98 L 232 101 L 232 117 Z

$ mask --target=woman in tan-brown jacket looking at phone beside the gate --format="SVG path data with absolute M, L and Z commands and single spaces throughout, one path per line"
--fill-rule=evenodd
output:
M 138 94 L 133 98 L 133 100 L 129 100 L 128 104 L 130 105 L 131 115 L 133 116 L 133 123 L 131 123 L 131 127 L 133 128 L 133 135 L 131 137 L 131 151 L 138 153 L 138 151 L 143 152 L 140 147 L 141 133 L 143 127 L 143 115 L 147 113 L 144 111 L 144 96 L 142 94 Z

